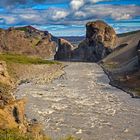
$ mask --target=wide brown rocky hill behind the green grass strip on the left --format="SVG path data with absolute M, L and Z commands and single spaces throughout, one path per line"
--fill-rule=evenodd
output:
M 32 26 L 0 30 L 0 52 L 10 52 L 50 58 L 55 54 L 56 40 L 47 31 Z

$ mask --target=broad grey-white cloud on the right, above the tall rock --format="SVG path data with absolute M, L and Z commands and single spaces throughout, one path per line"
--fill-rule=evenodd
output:
M 84 13 L 86 19 L 105 19 L 114 20 L 131 19 L 139 15 L 140 7 L 135 5 L 116 6 L 116 5 L 89 5 L 83 6 L 80 13 Z M 79 16 L 79 14 L 75 14 Z

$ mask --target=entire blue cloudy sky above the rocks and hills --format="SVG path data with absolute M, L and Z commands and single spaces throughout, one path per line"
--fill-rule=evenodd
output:
M 0 0 L 0 28 L 32 25 L 55 36 L 83 36 L 104 20 L 117 33 L 140 29 L 140 0 Z

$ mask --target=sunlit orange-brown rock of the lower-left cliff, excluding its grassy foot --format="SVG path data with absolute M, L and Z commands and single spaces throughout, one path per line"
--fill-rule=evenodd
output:
M 14 88 L 4 61 L 0 61 L 0 129 L 19 128 L 26 132 L 24 116 L 25 100 L 16 100 L 11 91 Z

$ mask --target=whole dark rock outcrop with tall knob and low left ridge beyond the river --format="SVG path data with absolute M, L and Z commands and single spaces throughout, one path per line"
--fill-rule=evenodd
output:
M 65 41 L 59 44 L 56 59 L 98 62 L 106 57 L 116 47 L 115 30 L 103 21 L 86 24 L 86 39 L 77 48 Z

